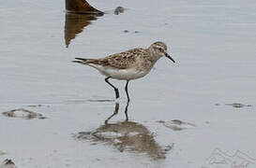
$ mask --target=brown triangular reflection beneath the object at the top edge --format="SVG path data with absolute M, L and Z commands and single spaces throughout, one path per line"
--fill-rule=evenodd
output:
M 70 41 L 76 37 L 76 35 L 83 32 L 83 28 L 89 24 L 91 21 L 96 21 L 97 17 L 94 15 L 85 14 L 74 14 L 66 13 L 65 21 L 65 42 L 66 47 L 70 44 Z

